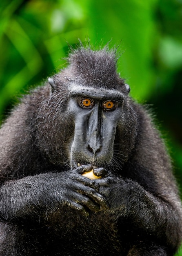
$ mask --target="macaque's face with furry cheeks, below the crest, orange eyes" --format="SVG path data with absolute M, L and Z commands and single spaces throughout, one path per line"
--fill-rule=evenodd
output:
M 38 110 L 36 139 L 57 168 L 92 164 L 116 171 L 129 157 L 136 127 L 122 90 L 71 84 L 64 93 L 51 93 Z

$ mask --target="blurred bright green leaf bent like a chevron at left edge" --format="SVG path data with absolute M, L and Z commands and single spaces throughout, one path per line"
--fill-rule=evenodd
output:
M 0 94 L 0 108 L 2 108 L 7 101 L 10 94 L 17 93 L 23 87 L 24 83 L 28 83 L 42 67 L 42 58 L 39 52 L 16 20 L 12 20 L 11 23 L 9 23 L 5 34 L 17 49 L 20 56 L 22 56 L 24 66 L 16 75 L 10 77 L 10 80 L 7 81 L 4 88 L 2 88 Z

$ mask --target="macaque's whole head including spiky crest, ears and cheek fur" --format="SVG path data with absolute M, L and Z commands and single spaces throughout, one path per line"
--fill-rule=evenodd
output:
M 137 119 L 129 85 L 116 72 L 115 52 L 81 48 L 68 60 L 69 66 L 49 79 L 47 154 L 72 168 L 121 167 L 133 148 Z

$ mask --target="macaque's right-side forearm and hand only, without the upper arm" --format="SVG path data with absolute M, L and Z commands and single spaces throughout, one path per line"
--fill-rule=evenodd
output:
M 133 180 L 118 178 L 116 182 L 116 177 L 110 189 L 107 198 L 115 217 L 126 217 L 130 220 L 130 229 L 133 227 L 133 230 L 140 230 L 142 235 L 154 236 L 172 248 L 179 246 L 182 236 L 179 225 L 182 222 L 182 212 L 180 200 L 175 193 L 170 191 L 170 198 L 167 200 L 160 195 L 149 193 Z

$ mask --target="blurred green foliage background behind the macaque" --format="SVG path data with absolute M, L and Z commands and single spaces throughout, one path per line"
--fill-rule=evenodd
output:
M 118 72 L 152 105 L 182 188 L 182 0 L 1 0 L 0 121 L 65 66 L 78 38 L 120 45 Z

